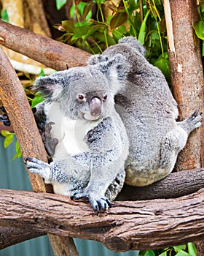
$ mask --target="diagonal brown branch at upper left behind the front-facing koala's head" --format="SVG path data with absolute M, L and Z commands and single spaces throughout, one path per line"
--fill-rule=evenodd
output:
M 0 44 L 56 70 L 83 66 L 90 56 L 90 53 L 84 50 L 4 23 L 2 20 L 0 20 Z

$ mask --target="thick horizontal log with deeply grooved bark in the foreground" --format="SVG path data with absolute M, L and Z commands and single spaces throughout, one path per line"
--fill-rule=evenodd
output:
M 0 189 L 0 225 L 101 241 L 113 251 L 154 249 L 204 238 L 204 190 L 178 199 L 115 202 L 93 215 L 68 197 Z

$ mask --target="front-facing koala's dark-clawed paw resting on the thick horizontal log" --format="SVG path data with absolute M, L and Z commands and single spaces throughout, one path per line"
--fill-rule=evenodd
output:
M 90 201 L 90 206 L 93 208 L 93 211 L 106 211 L 109 207 L 111 207 L 111 202 L 107 197 L 101 196 L 97 194 L 97 192 L 82 192 L 82 193 L 75 193 L 71 196 L 72 200 L 78 200 L 81 198 L 88 198 Z

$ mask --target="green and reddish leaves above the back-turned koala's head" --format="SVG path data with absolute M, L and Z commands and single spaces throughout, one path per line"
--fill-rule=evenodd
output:
M 95 12 L 93 10 L 96 10 Z M 72 20 L 63 20 L 55 28 L 63 31 L 61 42 L 90 53 L 102 53 L 121 37 L 136 37 L 146 47 L 146 58 L 162 69 L 170 82 L 168 43 L 161 0 L 75 0 Z

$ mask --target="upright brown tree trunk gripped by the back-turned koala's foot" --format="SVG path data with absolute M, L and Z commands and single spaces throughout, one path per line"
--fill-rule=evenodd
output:
M 178 103 L 180 119 L 195 109 L 203 112 L 204 80 L 200 42 L 192 24 L 198 20 L 197 1 L 170 1 L 175 52 L 170 52 L 170 72 L 173 95 Z M 203 127 L 192 132 L 187 146 L 178 156 L 176 170 L 201 167 L 203 161 Z

